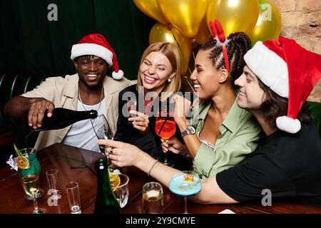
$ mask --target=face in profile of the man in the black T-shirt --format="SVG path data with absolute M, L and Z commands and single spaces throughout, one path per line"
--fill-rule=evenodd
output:
M 238 106 L 246 110 L 258 110 L 266 99 L 265 92 L 258 83 L 255 74 L 245 66 L 243 74 L 235 81 L 240 89 Z

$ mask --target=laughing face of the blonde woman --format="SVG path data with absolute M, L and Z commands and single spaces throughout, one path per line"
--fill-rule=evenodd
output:
M 160 93 L 168 78 L 173 78 L 173 68 L 168 58 L 160 51 L 153 51 L 143 59 L 139 68 L 139 76 L 143 87 L 148 91 Z

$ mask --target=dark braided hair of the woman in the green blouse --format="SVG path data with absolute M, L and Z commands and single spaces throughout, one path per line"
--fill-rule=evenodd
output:
M 252 48 L 251 40 L 243 32 L 232 33 L 228 36 L 228 44 L 226 49 L 228 51 L 228 61 L 230 63 L 231 83 L 235 86 L 234 81 L 243 73 L 245 61 L 243 56 Z M 215 38 L 200 46 L 200 50 L 210 50 L 210 61 L 216 69 L 225 68 L 225 61 L 223 57 L 222 48 L 218 46 Z M 236 86 L 235 86 L 236 88 Z

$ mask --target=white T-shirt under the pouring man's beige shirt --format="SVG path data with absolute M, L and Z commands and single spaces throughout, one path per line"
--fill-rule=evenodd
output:
M 85 107 L 85 109 L 83 108 Z M 96 105 L 85 105 L 78 100 L 77 110 L 97 110 L 99 107 L 99 103 Z M 97 110 L 98 115 L 104 114 L 106 115 L 106 102 L 105 98 L 101 100 L 101 106 Z M 95 123 L 96 124 L 96 123 Z M 103 123 L 101 123 L 103 125 Z M 91 120 L 81 120 L 71 125 L 70 130 L 66 137 L 63 139 L 63 144 L 72 145 L 74 147 L 81 147 L 86 150 L 93 150 L 99 152 L 99 146 L 97 144 L 97 137 L 95 132 L 93 131 L 93 126 L 91 125 Z

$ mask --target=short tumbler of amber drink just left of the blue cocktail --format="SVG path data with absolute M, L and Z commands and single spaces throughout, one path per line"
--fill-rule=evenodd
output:
M 146 214 L 163 212 L 163 187 L 158 182 L 143 185 L 143 209 Z

